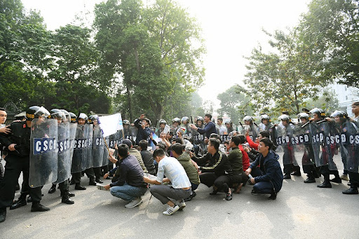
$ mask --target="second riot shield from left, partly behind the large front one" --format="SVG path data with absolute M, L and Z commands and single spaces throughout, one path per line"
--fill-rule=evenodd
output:
M 64 182 L 71 176 L 69 124 L 69 122 L 62 122 L 57 125 L 57 180 L 55 184 L 60 184 L 60 182 Z

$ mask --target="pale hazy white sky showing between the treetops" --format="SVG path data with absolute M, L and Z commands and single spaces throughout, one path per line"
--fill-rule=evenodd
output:
M 22 0 L 25 8 L 41 11 L 48 26 L 54 30 L 71 23 L 76 13 L 92 11 L 101 0 Z M 219 106 L 217 95 L 234 84 L 243 85 L 247 61 L 252 49 L 268 37 L 262 29 L 285 30 L 299 22 L 307 11 L 309 0 L 177 0 L 197 18 L 203 29 L 207 55 L 203 57 L 205 83 L 198 89 L 203 100 Z M 90 19 L 88 20 L 90 24 Z

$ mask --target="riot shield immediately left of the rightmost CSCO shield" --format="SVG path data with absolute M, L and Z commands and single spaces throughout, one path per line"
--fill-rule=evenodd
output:
M 320 163 L 322 165 L 328 165 L 329 170 L 338 170 L 337 165 L 335 165 L 333 161 L 333 144 L 330 144 L 330 132 L 332 131 L 330 123 L 327 121 L 319 124 L 319 139 L 320 139 L 320 149 L 322 151 L 322 155 L 320 156 Z

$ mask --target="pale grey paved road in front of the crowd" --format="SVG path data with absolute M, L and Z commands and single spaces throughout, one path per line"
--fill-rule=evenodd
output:
M 342 172 L 339 156 L 335 161 Z M 48 194 L 46 185 L 41 203 L 51 210 L 30 212 L 29 204 L 8 210 L 0 238 L 359 238 L 359 196 L 343 195 L 344 181 L 318 189 L 323 177 L 317 184 L 304 184 L 304 177 L 284 180 L 277 200 L 252 196 L 247 185 L 226 201 L 224 193 L 210 196 L 212 189 L 201 184 L 196 198 L 171 217 L 162 214 L 165 206 L 156 198 L 149 201 L 149 192 L 140 207 L 127 209 L 108 191 L 71 186 L 75 204 L 65 205 L 60 191 Z

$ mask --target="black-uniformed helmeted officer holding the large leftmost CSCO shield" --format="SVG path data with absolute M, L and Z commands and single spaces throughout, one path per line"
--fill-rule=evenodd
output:
M 31 188 L 29 186 L 29 154 L 32 120 L 34 118 L 46 118 L 48 111 L 43 107 L 29 107 L 26 111 L 26 121 L 11 123 L 11 133 L 1 133 L 0 142 L 6 146 L 8 156 L 6 157 L 5 175 L 0 184 L 0 222 L 6 219 L 6 207 L 13 203 L 15 186 L 20 173 L 24 175 L 25 183 L 21 196 L 18 200 L 19 207 L 26 205 L 26 196 L 32 197 L 32 212 L 45 212 L 50 208 L 40 204 L 41 186 Z

